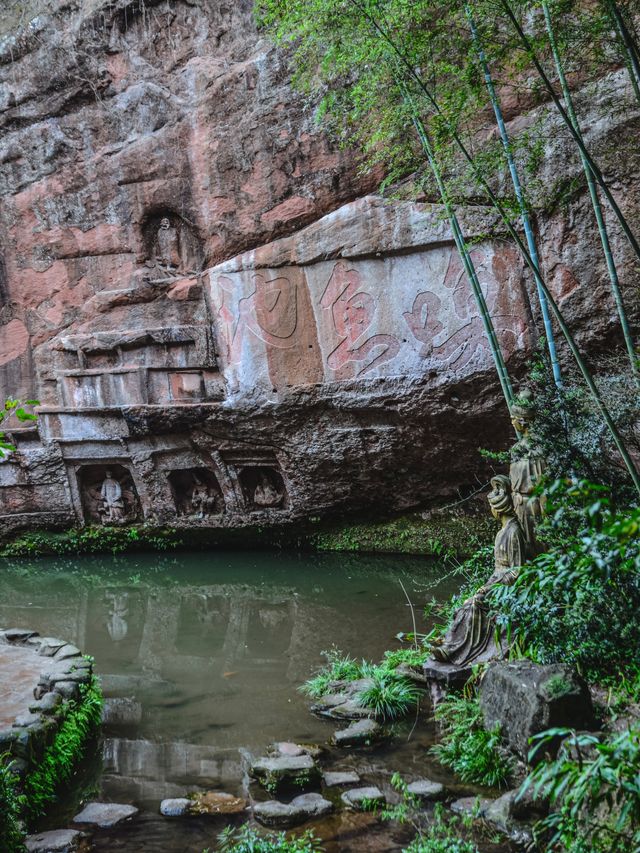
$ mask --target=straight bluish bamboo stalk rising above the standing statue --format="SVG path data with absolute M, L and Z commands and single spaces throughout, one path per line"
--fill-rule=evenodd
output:
M 467 20 L 469 21 L 471 37 L 473 39 L 473 43 L 478 54 L 478 59 L 480 61 L 482 72 L 484 74 L 485 84 L 487 86 L 489 98 L 491 99 L 491 105 L 493 106 L 493 112 L 496 117 L 496 123 L 500 132 L 500 139 L 502 140 L 502 147 L 504 149 L 505 158 L 509 167 L 509 174 L 511 175 L 511 182 L 513 184 L 513 189 L 516 194 L 516 199 L 518 201 L 518 207 L 520 208 L 520 218 L 522 220 L 522 227 L 524 228 L 529 254 L 533 259 L 535 266 L 539 268 L 540 261 L 538 258 L 538 248 L 536 246 L 535 237 L 533 236 L 531 219 L 529 218 L 529 212 L 527 210 L 527 203 L 525 201 L 522 184 L 520 182 L 520 176 L 518 175 L 515 159 L 513 157 L 513 150 L 511 148 L 511 142 L 509 140 L 509 134 L 504 123 L 504 116 L 502 114 L 500 100 L 495 90 L 495 86 L 493 85 L 493 78 L 491 77 L 489 63 L 487 62 L 487 58 L 482 47 L 482 43 L 480 41 L 480 36 L 478 35 L 478 29 L 476 27 L 476 22 L 473 18 L 473 13 L 469 3 L 465 3 L 465 14 L 467 16 Z M 556 351 L 553 326 L 551 325 L 551 317 L 549 315 L 549 306 L 547 304 L 547 298 L 544 295 L 544 290 L 540 286 L 540 276 L 538 274 L 535 275 L 535 282 L 536 290 L 538 292 L 538 302 L 540 303 L 540 311 L 542 313 L 542 322 L 544 324 L 545 336 L 547 338 L 547 347 L 549 349 L 549 358 L 551 361 L 553 381 L 556 383 L 556 386 L 558 388 L 562 388 L 562 374 L 560 372 L 560 363 L 558 361 L 558 354 Z

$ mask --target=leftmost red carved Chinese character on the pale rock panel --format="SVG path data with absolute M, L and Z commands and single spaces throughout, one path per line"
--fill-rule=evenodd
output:
M 253 293 L 239 300 L 237 311 L 233 304 L 234 283 L 226 276 L 218 279 L 222 305 L 218 310 L 227 341 L 227 360 L 238 364 L 247 332 L 258 340 L 278 349 L 295 345 L 298 328 L 298 287 L 288 278 L 267 281 L 263 275 L 253 277 Z

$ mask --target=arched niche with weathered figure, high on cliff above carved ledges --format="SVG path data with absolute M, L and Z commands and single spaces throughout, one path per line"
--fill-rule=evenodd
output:
M 204 268 L 202 244 L 193 225 L 171 210 L 148 214 L 142 225 L 146 263 L 160 277 L 189 276 Z

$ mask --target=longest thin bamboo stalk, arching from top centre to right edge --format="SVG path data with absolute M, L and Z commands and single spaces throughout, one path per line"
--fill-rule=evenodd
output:
M 457 132 L 457 130 L 454 127 L 452 127 L 449 124 L 449 122 L 446 119 L 446 116 L 444 116 L 444 114 L 440 108 L 440 105 L 438 104 L 436 99 L 433 97 L 430 90 L 425 85 L 424 81 L 422 80 L 420 75 L 417 73 L 417 71 L 415 70 L 412 63 L 407 59 L 407 57 L 404 55 L 404 53 L 398 48 L 398 46 L 393 41 L 393 39 L 389 36 L 389 34 L 380 26 L 378 21 L 370 14 L 369 10 L 359 2 L 359 0 L 350 0 L 350 2 L 360 12 L 362 12 L 362 14 L 367 18 L 367 20 L 374 27 L 374 29 L 379 33 L 381 38 L 383 38 L 384 41 L 390 46 L 390 48 L 392 49 L 394 54 L 398 57 L 400 63 L 405 67 L 405 69 L 408 71 L 409 75 L 415 80 L 415 82 L 419 86 L 420 90 L 424 93 L 425 97 L 427 98 L 429 103 L 432 105 L 432 107 L 436 111 L 436 113 L 438 113 L 438 115 L 442 116 L 445 119 L 445 122 L 448 125 L 449 132 L 451 134 L 451 138 L 454 140 L 454 142 L 456 143 L 456 145 L 460 149 L 460 152 L 463 155 L 463 157 L 465 158 L 465 160 L 471 166 L 473 173 L 475 175 L 475 178 L 478 182 L 478 185 L 483 188 L 483 190 L 486 192 L 487 196 L 491 200 L 491 203 L 493 204 L 493 206 L 496 208 L 496 210 L 500 214 L 500 217 L 501 217 L 505 227 L 507 228 L 507 231 L 509 232 L 511 238 L 514 240 L 516 246 L 518 247 L 525 263 L 527 264 L 527 266 L 533 272 L 534 275 L 536 273 L 538 275 L 540 275 L 540 270 L 533 263 L 533 259 L 531 258 L 531 255 L 529 254 L 527 247 L 522 242 L 522 239 L 521 239 L 520 235 L 518 234 L 515 226 L 511 222 L 509 215 L 504 208 L 504 205 L 500 202 L 500 200 L 498 199 L 496 194 L 493 192 L 493 190 L 491 189 L 491 187 L 489 186 L 489 184 L 485 180 L 482 173 L 479 171 L 477 164 L 475 163 L 473 157 L 469 153 L 469 150 L 466 147 L 466 145 L 464 144 L 463 140 L 460 138 L 459 133 Z M 557 98 L 557 96 L 556 96 L 556 98 Z M 563 112 L 564 112 L 564 110 L 563 110 Z M 609 429 L 609 432 L 611 433 L 611 437 L 613 438 L 613 441 L 614 441 L 616 447 L 618 448 L 618 452 L 620 453 L 622 461 L 624 462 L 625 467 L 627 468 L 627 470 L 629 472 L 629 476 L 631 477 L 631 480 L 633 481 L 633 484 L 634 484 L 638 494 L 640 494 L 640 474 L 638 473 L 638 470 L 637 470 L 633 460 L 631 459 L 629 452 L 627 451 L 627 448 L 624 444 L 622 436 L 620 435 L 620 432 L 618 431 L 618 428 L 616 427 L 615 422 L 614 422 L 613 418 L 611 417 L 611 414 L 609 413 L 609 410 L 606 406 L 606 403 L 604 402 L 604 400 L 602 399 L 602 397 L 600 395 L 600 392 L 598 390 L 597 385 L 593 381 L 593 377 L 591 376 L 591 372 L 589 371 L 589 368 L 587 367 L 585 361 L 583 360 L 583 358 L 580 354 L 580 350 L 578 349 L 578 346 L 575 342 L 575 339 L 574 339 L 573 335 L 571 334 L 571 330 L 569 329 L 569 327 L 567 326 L 567 324 L 564 320 L 564 317 L 562 315 L 562 312 L 560 311 L 560 308 L 556 304 L 555 299 L 553 298 L 552 294 L 550 293 L 549 288 L 547 287 L 547 285 L 546 285 L 546 283 L 542 277 L 540 278 L 540 283 L 542 285 L 545 296 L 547 297 L 549 307 L 551 308 L 551 311 L 552 311 L 554 317 L 556 318 L 558 325 L 560 326 L 560 330 L 561 330 L 562 334 L 564 335 L 564 338 L 567 341 L 567 344 L 569 345 L 569 349 L 571 350 L 571 354 L 573 355 L 573 357 L 576 361 L 576 364 L 578 365 L 578 368 L 580 369 L 580 372 L 582 373 L 584 381 L 585 381 L 587 387 L 589 388 L 589 391 L 591 392 L 593 399 L 596 402 L 596 405 L 600 411 L 600 414 L 602 415 L 602 417 L 603 417 L 603 419 L 607 425 L 607 428 Z

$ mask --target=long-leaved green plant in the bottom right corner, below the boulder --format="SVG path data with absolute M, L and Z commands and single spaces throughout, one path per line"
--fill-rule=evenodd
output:
M 640 849 L 640 728 L 600 740 L 551 729 L 533 740 L 532 756 L 559 736 L 554 761 L 543 761 L 525 780 L 553 809 L 536 827 L 546 849 L 572 853 L 625 853 Z

